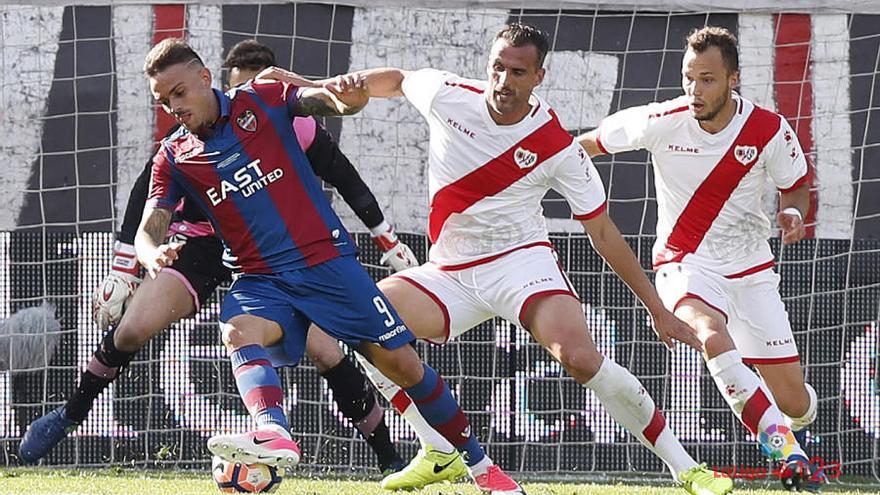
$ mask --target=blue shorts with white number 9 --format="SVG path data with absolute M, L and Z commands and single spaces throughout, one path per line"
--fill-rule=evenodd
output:
M 396 349 L 415 340 L 353 255 L 299 270 L 240 276 L 223 299 L 220 321 L 241 314 L 281 326 L 281 342 L 267 348 L 276 367 L 299 363 L 310 323 L 355 349 L 362 342 Z

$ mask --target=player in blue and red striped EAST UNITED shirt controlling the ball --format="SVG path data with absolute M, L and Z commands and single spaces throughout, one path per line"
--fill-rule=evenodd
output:
M 301 359 L 314 322 L 406 391 L 464 454 L 479 488 L 522 493 L 486 456 L 449 387 L 409 345 L 415 337 L 357 262 L 351 237 L 297 143 L 294 116 L 360 111 L 368 99 L 362 81 L 254 83 L 227 95 L 211 89 L 211 72 L 198 54 L 174 39 L 150 50 L 145 72 L 156 101 L 186 129 L 163 140 L 153 160 L 150 199 L 135 237 L 151 277 L 140 290 L 170 276 L 163 268 L 173 265 L 181 246 L 165 242 L 165 233 L 171 209 L 186 193 L 240 267 L 220 320 L 257 430 L 216 435 L 208 449 L 242 462 L 289 467 L 299 461 L 275 367 Z

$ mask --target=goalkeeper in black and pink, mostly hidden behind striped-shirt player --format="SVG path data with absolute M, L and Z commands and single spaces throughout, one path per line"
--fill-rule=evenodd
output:
M 232 73 L 230 84 L 236 86 L 250 79 L 260 69 L 274 65 L 274 57 L 265 45 L 248 41 L 233 47 L 224 65 Z M 399 242 L 393 228 L 385 221 L 375 196 L 339 150 L 332 136 L 312 117 L 297 118 L 294 125 L 315 173 L 339 191 L 371 230 L 376 244 L 386 253 L 383 261 L 396 271 L 417 265 L 412 251 Z M 169 135 L 176 132 L 177 127 Z M 45 456 L 64 436 L 79 426 L 98 394 L 118 376 L 119 368 L 125 366 L 140 347 L 165 328 L 156 326 L 158 323 L 130 324 L 130 318 L 117 326 L 125 302 L 131 297 L 146 297 L 146 293 L 134 292 L 141 280 L 133 243 L 148 195 L 151 165 L 152 161 L 147 163 L 132 188 L 121 233 L 114 247 L 112 269 L 93 294 L 95 322 L 103 330 L 110 325 L 114 328 L 110 328 L 105 335 L 92 358 L 93 362 L 80 376 L 79 384 L 67 403 L 44 416 L 45 419 L 35 422 L 25 435 L 21 457 L 27 462 L 35 462 Z M 182 284 L 189 292 L 186 299 L 192 301 L 189 311 L 197 312 L 217 286 L 229 280 L 229 269 L 221 262 L 223 245 L 192 201 L 183 201 L 177 208 L 168 236 L 185 243 L 174 267 L 167 270 L 174 274 L 176 280 L 168 279 L 168 283 L 175 286 Z M 180 302 L 180 306 L 186 304 Z M 154 306 L 156 310 L 161 312 Z M 187 315 L 180 313 L 180 316 Z M 127 352 L 132 348 L 133 351 Z M 345 358 L 336 339 L 315 328 L 309 332 L 306 352 L 318 372 L 327 380 L 339 410 L 351 420 L 375 451 L 380 471 L 400 468 L 403 462 L 390 441 L 382 409 L 363 374 L 351 360 Z M 40 425 L 48 427 L 51 424 L 57 424 L 59 428 L 44 432 L 49 434 L 35 433 Z

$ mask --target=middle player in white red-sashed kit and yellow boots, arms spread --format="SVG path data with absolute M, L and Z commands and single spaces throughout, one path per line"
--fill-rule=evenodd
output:
M 549 242 L 541 199 L 552 188 L 648 308 L 659 337 L 670 347 L 672 339 L 700 347 L 692 330 L 663 307 L 608 217 L 591 160 L 547 102 L 532 94 L 543 79 L 547 50 L 540 30 L 513 24 L 494 40 L 488 81 L 433 69 L 376 69 L 340 78 L 342 86 L 365 85 L 373 97 L 405 96 L 430 128 L 430 261 L 379 286 L 423 339 L 445 342 L 494 316 L 523 326 L 688 491 L 728 493 L 730 479 L 688 455 L 638 379 L 599 353 Z M 417 486 L 424 459 L 442 468 L 448 458 L 442 451 L 454 450 L 433 447 L 383 480 L 383 487 Z M 505 493 L 521 492 L 510 485 Z

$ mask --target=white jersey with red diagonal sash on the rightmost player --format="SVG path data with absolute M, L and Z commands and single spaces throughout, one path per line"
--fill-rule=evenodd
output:
M 797 136 L 777 113 L 734 95 L 721 132 L 704 131 L 687 97 L 617 112 L 598 128 L 606 153 L 651 152 L 657 190 L 654 268 L 687 260 L 732 277 L 772 266 L 767 177 L 780 191 L 808 178 Z

